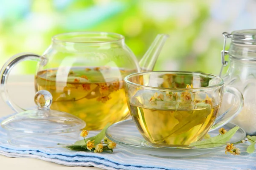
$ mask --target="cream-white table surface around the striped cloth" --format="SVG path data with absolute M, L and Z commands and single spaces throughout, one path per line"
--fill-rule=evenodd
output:
M 13 101 L 24 108 L 34 106 L 34 77 L 33 75 L 11 75 L 8 90 Z M 0 98 L 0 117 L 14 113 L 11 108 Z M 32 158 L 8 158 L 0 155 L 0 170 L 96 170 L 96 167 L 67 167 L 52 162 Z

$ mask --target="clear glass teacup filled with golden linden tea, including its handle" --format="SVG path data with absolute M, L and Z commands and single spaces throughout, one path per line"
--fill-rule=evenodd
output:
M 211 74 L 151 71 L 125 77 L 128 107 L 141 135 L 157 146 L 185 146 L 233 119 L 243 96 Z M 218 114 L 222 97 L 232 107 Z

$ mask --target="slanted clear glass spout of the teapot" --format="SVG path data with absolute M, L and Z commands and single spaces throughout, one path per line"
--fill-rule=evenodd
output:
M 163 48 L 164 43 L 166 42 L 166 39 L 169 37 L 167 34 L 158 34 L 155 38 L 154 42 L 151 44 L 151 46 L 148 48 L 148 51 L 145 53 L 145 55 L 140 60 L 140 69 L 141 71 L 152 71 L 154 68 L 154 65 L 157 61 L 157 58 L 160 54 L 160 51 Z

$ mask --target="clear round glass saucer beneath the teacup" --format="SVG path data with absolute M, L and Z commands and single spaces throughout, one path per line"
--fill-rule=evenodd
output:
M 223 127 L 226 130 L 230 130 L 236 125 L 227 123 Z M 210 136 L 217 136 L 218 130 L 212 130 L 209 132 Z M 223 150 L 225 145 L 221 147 L 210 147 L 210 148 L 176 148 L 176 147 L 155 147 L 149 142 L 145 141 L 143 136 L 137 130 L 136 125 L 132 119 L 118 122 L 111 125 L 106 130 L 106 136 L 108 139 L 120 144 L 128 149 L 136 150 L 140 153 L 145 153 L 151 156 L 165 157 L 165 158 L 180 158 L 198 156 L 207 153 L 217 152 Z M 239 129 L 236 134 L 230 139 L 230 143 L 240 142 L 246 137 L 246 133 L 243 129 Z

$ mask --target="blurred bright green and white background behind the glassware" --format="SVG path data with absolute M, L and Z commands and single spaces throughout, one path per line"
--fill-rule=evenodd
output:
M 0 66 L 20 52 L 43 54 L 64 32 L 122 34 L 138 59 L 166 33 L 154 70 L 218 74 L 222 32 L 255 28 L 255 7 L 255 0 L 0 0 Z M 34 74 L 35 66 L 24 62 L 13 73 Z

